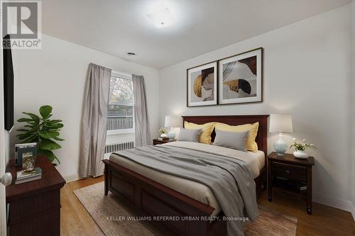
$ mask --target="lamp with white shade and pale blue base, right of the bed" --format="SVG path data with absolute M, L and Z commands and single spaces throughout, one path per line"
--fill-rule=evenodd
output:
M 271 114 L 270 115 L 270 133 L 278 133 L 278 140 L 273 144 L 273 148 L 279 156 L 283 156 L 288 150 L 288 145 L 283 141 L 283 133 L 292 133 L 291 114 Z

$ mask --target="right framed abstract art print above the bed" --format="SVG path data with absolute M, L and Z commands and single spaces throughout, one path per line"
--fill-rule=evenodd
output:
M 263 48 L 219 60 L 219 104 L 263 101 Z

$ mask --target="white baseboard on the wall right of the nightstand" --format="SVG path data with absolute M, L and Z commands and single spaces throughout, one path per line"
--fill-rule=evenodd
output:
M 338 208 L 340 210 L 349 211 L 353 215 L 355 221 L 355 208 L 351 201 L 324 196 L 320 194 L 313 194 L 313 201 L 323 205 L 331 206 L 333 208 Z

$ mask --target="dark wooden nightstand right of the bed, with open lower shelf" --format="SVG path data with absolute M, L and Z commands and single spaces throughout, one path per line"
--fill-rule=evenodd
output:
M 297 159 L 293 154 L 285 153 L 283 157 L 278 156 L 276 152 L 268 155 L 268 201 L 273 200 L 273 184 L 281 189 L 292 189 L 293 192 L 302 193 L 305 191 L 307 199 L 307 214 L 312 214 L 312 166 L 315 164 L 315 157 L 307 159 Z M 281 181 L 290 181 L 295 186 L 288 184 L 276 184 L 278 178 Z M 298 184 L 301 183 L 301 184 Z M 300 185 L 304 186 L 300 186 Z M 297 189 L 297 186 L 299 187 Z M 288 188 L 290 187 L 290 188 Z

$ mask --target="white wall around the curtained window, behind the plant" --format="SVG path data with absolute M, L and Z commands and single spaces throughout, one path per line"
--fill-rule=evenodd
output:
M 90 62 L 121 72 L 143 74 L 146 79 L 151 133 L 158 135 L 159 72 L 157 69 L 128 62 L 119 57 L 43 35 L 42 50 L 13 50 L 15 68 L 15 119 L 22 111 L 38 113 L 38 108 L 53 106 L 53 118 L 63 120 L 62 148 L 55 153 L 60 158 L 58 169 L 67 179 L 75 179 L 79 164 L 80 123 L 85 77 Z M 17 122 L 15 129 L 19 128 Z M 11 133 L 11 147 L 16 142 Z

